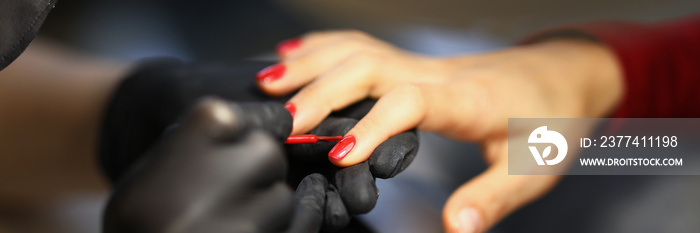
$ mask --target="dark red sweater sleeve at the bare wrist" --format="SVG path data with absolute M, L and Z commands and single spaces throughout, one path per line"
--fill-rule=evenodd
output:
M 625 79 L 613 117 L 700 117 L 700 15 L 648 25 L 592 22 L 544 33 L 575 31 L 607 45 Z

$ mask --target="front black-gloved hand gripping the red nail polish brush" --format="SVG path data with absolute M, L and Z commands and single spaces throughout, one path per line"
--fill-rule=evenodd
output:
M 120 179 L 103 232 L 318 232 L 326 181 L 305 178 L 293 212 L 290 131 L 281 104 L 201 101 Z

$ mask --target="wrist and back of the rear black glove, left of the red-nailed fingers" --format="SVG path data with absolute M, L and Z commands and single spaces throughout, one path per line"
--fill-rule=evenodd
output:
M 245 81 L 267 64 L 195 64 L 173 58 L 142 61 L 113 91 L 104 113 L 99 160 L 107 177 L 117 181 L 166 129 L 173 127 L 177 117 L 202 97 L 236 102 L 274 100 L 255 91 L 252 81 Z M 265 126 L 280 138 L 287 136 L 283 135 L 286 128 Z

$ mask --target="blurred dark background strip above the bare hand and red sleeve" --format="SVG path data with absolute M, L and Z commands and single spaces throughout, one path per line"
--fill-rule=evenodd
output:
M 653 22 L 698 10 L 693 0 L 71 0 L 58 3 L 42 32 L 126 58 L 258 57 L 281 40 L 324 29 L 359 29 L 408 50 L 449 55 L 503 47 L 561 24 Z

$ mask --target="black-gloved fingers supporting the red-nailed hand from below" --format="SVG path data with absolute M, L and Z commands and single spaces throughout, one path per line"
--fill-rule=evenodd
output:
M 345 135 L 357 122 L 351 118 L 329 117 L 310 133 Z M 394 177 L 411 163 L 418 151 L 415 131 L 404 132 L 380 144 L 368 161 L 340 168 L 327 158 L 328 151 L 336 143 L 287 145 L 292 185 L 311 173 L 321 173 L 329 180 L 323 222 L 323 229 L 329 232 L 345 227 L 350 215 L 372 210 L 379 198 L 375 178 Z

